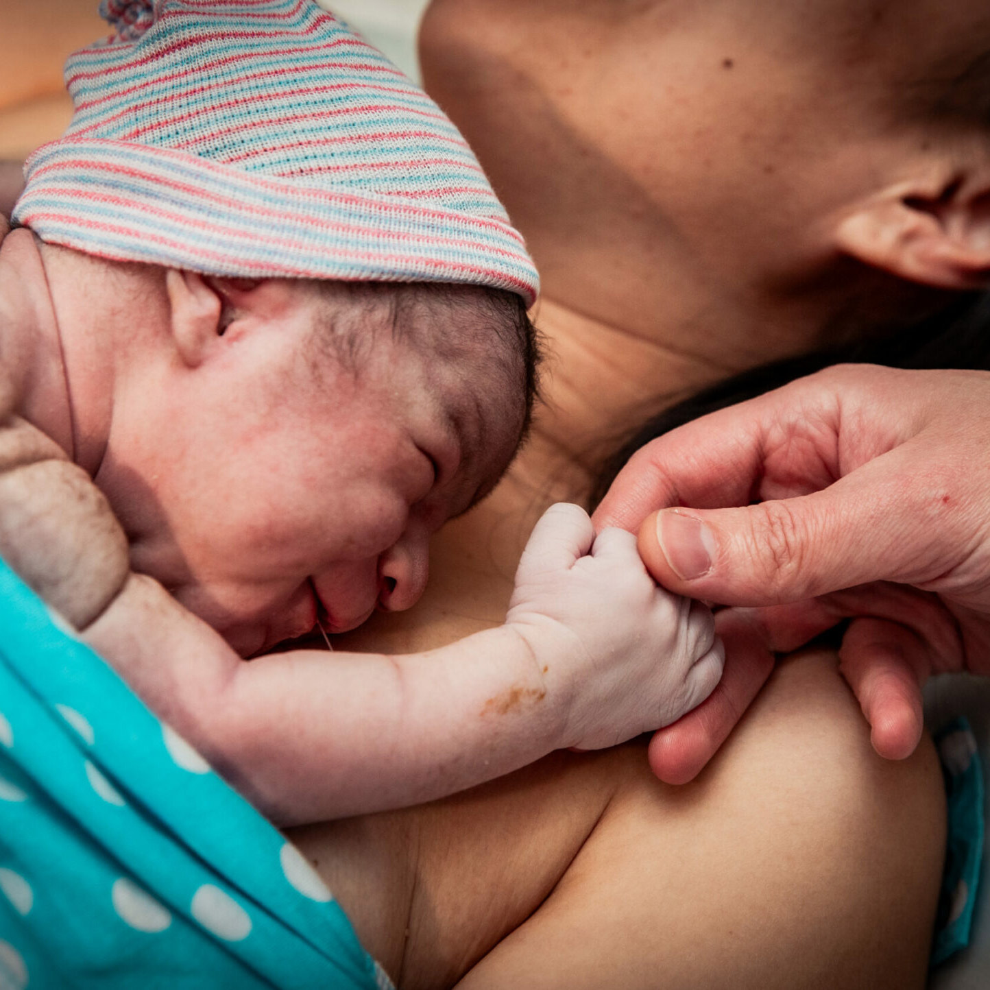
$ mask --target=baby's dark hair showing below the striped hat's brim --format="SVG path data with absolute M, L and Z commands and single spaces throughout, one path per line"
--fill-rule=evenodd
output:
M 484 352 L 525 403 L 523 435 L 529 431 L 540 391 L 540 339 L 526 303 L 514 292 L 446 282 L 311 283 L 325 304 L 316 329 L 314 358 L 337 358 L 354 374 L 376 338 L 429 349 L 440 359 Z M 343 305 L 342 305 L 343 303 Z M 451 332 L 451 328 L 454 328 Z

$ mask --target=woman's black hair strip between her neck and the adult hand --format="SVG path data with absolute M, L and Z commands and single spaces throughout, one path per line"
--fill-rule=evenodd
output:
M 849 362 L 990 371 L 990 292 L 966 294 L 949 309 L 895 333 L 762 364 L 681 400 L 650 419 L 608 458 L 591 492 L 591 505 L 605 497 L 626 461 L 649 441 L 796 378 Z

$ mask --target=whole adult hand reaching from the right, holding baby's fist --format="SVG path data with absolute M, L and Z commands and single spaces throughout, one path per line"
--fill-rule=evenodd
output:
M 907 756 L 926 677 L 990 673 L 990 373 L 839 365 L 799 379 L 644 446 L 595 524 L 640 527 L 661 584 L 735 606 L 719 616 L 719 687 L 651 743 L 662 779 L 711 758 L 772 650 L 848 616 L 862 618 L 842 673 L 876 750 Z

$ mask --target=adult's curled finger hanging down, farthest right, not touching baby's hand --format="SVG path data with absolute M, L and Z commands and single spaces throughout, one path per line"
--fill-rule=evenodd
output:
M 839 656 L 841 674 L 870 724 L 873 748 L 887 759 L 906 759 L 925 725 L 926 644 L 897 623 L 863 618 L 850 623 Z

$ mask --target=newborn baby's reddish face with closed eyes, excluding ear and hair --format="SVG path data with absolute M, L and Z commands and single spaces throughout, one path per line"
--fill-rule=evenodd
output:
M 135 404 L 100 479 L 135 568 L 244 655 L 413 605 L 430 536 L 494 485 L 522 429 L 521 386 L 490 357 L 386 331 L 353 371 L 305 337 L 303 308 Z

